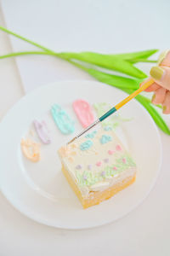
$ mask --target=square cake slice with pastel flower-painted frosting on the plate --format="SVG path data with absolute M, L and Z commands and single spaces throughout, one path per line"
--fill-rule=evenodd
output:
M 136 165 L 110 126 L 90 131 L 58 153 L 83 208 L 111 198 L 135 181 Z

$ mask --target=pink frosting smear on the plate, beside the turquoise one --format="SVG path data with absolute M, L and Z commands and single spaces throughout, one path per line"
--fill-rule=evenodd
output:
M 72 107 L 77 114 L 77 118 L 81 122 L 82 127 L 86 128 L 94 122 L 94 113 L 88 102 L 77 100 L 72 103 Z

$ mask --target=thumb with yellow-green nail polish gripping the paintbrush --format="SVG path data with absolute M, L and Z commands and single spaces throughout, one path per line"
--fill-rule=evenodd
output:
M 170 90 L 170 67 L 152 67 L 150 69 L 150 76 L 154 79 L 156 84 Z

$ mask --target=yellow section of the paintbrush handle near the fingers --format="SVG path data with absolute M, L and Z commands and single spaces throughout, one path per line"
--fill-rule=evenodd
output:
M 122 106 L 124 106 L 127 102 L 129 102 L 130 100 L 132 100 L 135 96 L 139 95 L 139 93 L 145 89 L 147 89 L 151 84 L 154 83 L 153 79 L 150 79 L 148 82 L 146 82 L 144 85 L 142 85 L 141 87 L 139 87 L 138 90 L 135 90 L 131 95 L 127 96 L 126 99 L 122 100 L 122 102 L 119 102 L 118 104 L 116 104 L 115 108 L 116 110 L 118 110 L 119 108 L 122 108 Z

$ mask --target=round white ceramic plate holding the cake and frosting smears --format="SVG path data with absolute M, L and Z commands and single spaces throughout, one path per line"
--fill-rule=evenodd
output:
M 39 223 L 65 229 L 107 224 L 137 207 L 149 194 L 161 166 L 160 137 L 149 113 L 134 100 L 120 110 L 122 117 L 133 118 L 117 131 L 137 162 L 136 182 L 86 210 L 63 177 L 57 155 L 57 149 L 75 134 L 62 135 L 49 113 L 51 106 L 59 103 L 76 120 L 78 132 L 82 128 L 71 109 L 74 100 L 83 98 L 90 103 L 115 105 L 125 96 L 106 84 L 65 81 L 48 84 L 23 97 L 0 125 L 0 186 L 8 201 Z M 45 119 L 52 137 L 50 145 L 42 145 L 42 160 L 37 163 L 26 160 L 20 151 L 20 139 L 28 134 L 33 119 Z

